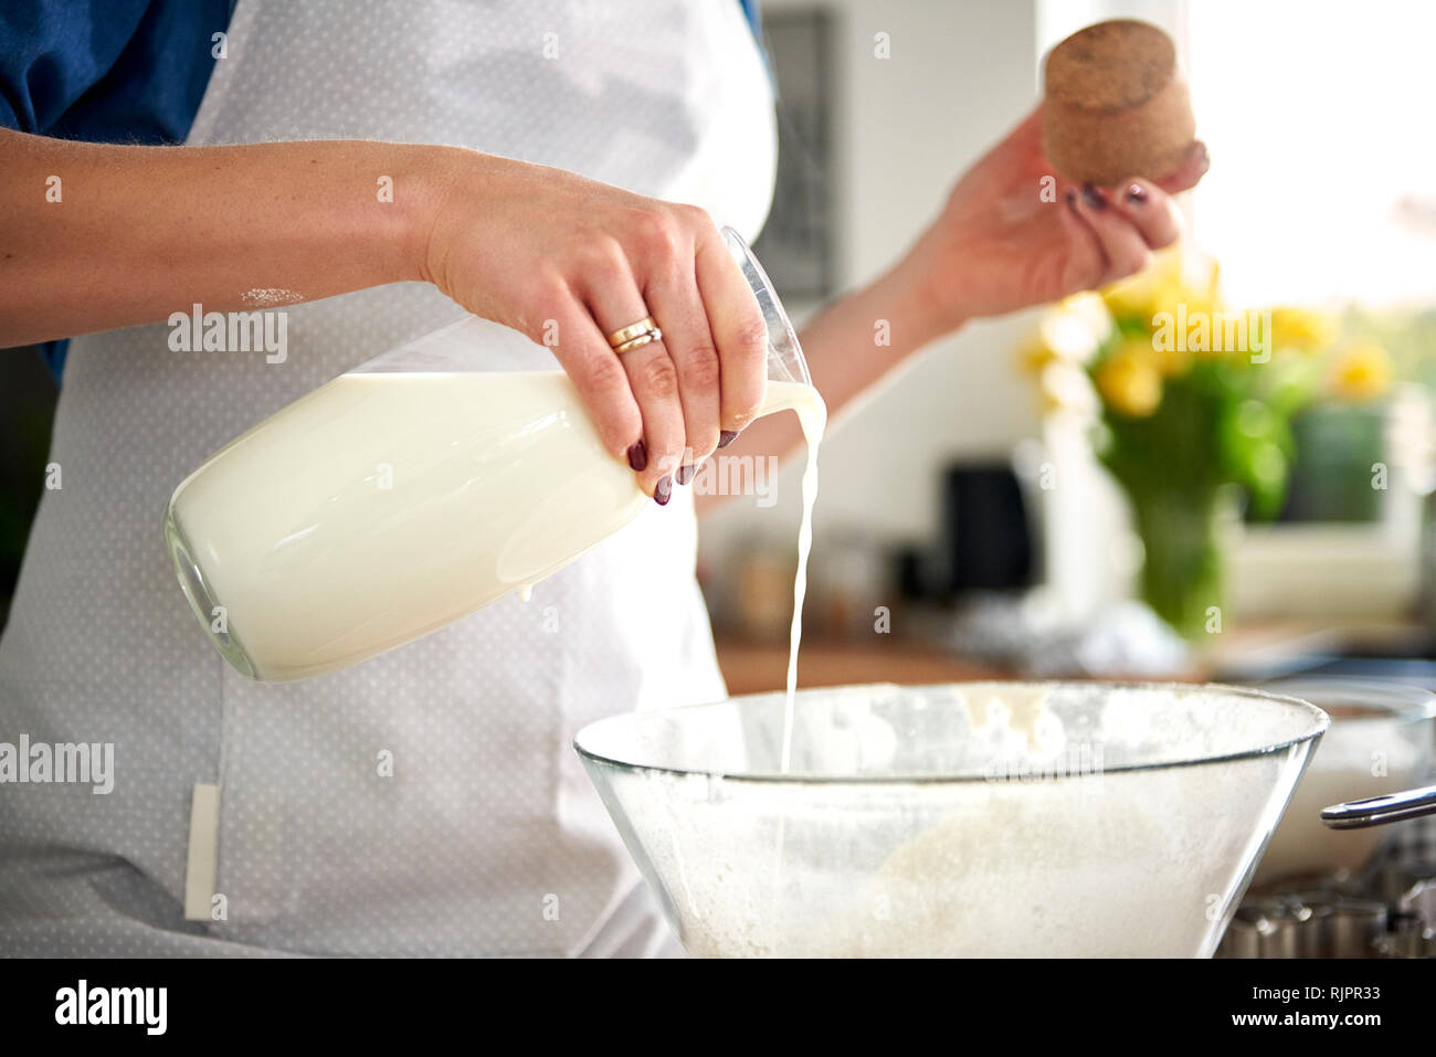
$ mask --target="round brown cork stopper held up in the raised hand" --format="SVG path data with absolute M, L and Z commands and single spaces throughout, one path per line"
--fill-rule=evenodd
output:
M 1162 180 L 1196 138 L 1172 39 L 1133 19 L 1099 22 L 1047 56 L 1043 149 L 1068 180 Z

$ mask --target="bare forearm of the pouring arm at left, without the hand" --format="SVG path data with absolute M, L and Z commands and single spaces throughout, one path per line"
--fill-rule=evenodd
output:
M 421 279 L 415 243 L 444 149 L 112 146 L 0 129 L 0 348 L 194 303 L 230 312 Z

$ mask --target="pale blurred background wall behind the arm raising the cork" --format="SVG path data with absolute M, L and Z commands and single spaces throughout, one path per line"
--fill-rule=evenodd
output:
M 869 281 L 942 207 L 951 184 L 1037 102 L 1035 6 L 1028 0 L 872 4 L 796 0 L 764 4 L 765 17 L 827 10 L 837 66 L 830 99 L 833 224 L 839 287 Z M 886 33 L 890 57 L 876 57 Z M 780 86 L 784 78 L 778 56 Z M 783 101 L 780 99 L 780 115 Z M 773 223 L 773 221 L 770 221 Z M 760 243 L 760 254 L 763 246 Z M 783 286 L 781 273 L 775 281 Z M 794 316 L 816 306 L 788 299 Z M 860 528 L 899 541 L 931 531 L 938 468 L 955 455 L 999 455 L 1037 431 L 1031 385 L 1012 369 L 1012 348 L 1031 313 L 976 323 L 933 345 L 920 360 L 846 418 L 823 445 L 816 533 Z M 873 349 L 875 356 L 883 355 Z M 778 503 L 727 504 L 704 521 L 711 566 L 754 537 L 791 547 L 798 468 Z

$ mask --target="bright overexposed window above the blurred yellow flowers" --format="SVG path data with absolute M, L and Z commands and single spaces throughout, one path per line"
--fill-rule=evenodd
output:
M 1186 33 L 1193 234 L 1228 297 L 1436 303 L 1436 4 L 1202 0 Z

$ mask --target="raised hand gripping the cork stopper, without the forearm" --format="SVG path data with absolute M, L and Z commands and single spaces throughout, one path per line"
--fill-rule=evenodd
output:
M 1203 144 L 1193 142 L 1160 184 L 1078 187 L 1043 155 L 1041 113 L 1038 106 L 958 181 L 899 264 L 925 293 L 933 333 L 1130 276 L 1180 234 L 1167 195 L 1206 172 Z

